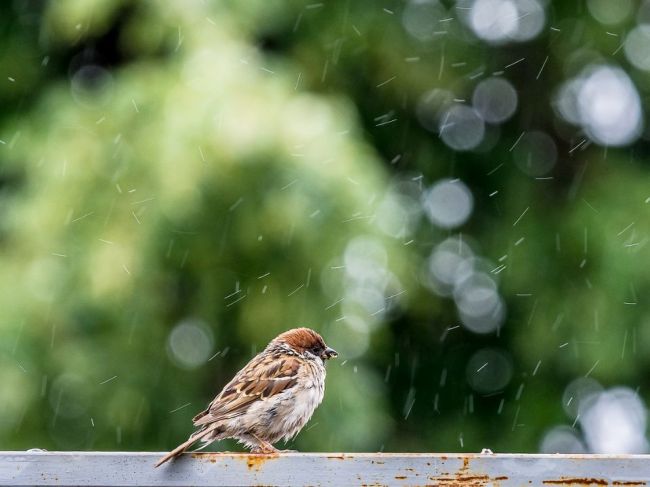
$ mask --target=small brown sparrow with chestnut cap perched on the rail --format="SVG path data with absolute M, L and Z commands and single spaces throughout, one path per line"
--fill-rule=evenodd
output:
M 298 434 L 325 393 L 325 361 L 338 356 L 309 328 L 275 337 L 194 419 L 197 427 L 156 464 L 183 453 L 197 441 L 234 438 L 251 453 L 276 453 L 273 443 Z

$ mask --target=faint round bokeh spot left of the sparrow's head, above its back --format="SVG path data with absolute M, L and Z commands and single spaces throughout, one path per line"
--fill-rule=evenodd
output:
M 196 319 L 181 321 L 167 338 L 169 357 L 184 369 L 195 369 L 207 362 L 213 346 L 212 330 Z

